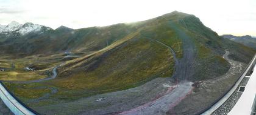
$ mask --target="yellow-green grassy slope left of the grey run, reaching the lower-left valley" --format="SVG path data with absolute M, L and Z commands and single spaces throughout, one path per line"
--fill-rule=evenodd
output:
M 63 73 L 60 69 L 58 79 L 26 84 L 22 85 L 23 87 L 16 87 L 18 84 L 6 83 L 6 85 L 17 96 L 25 100 L 31 98 L 31 94 L 23 93 L 23 91 L 46 85 L 59 89 L 58 93 L 51 98 L 72 100 L 91 94 L 136 87 L 155 77 L 171 76 L 174 61 L 168 48 L 140 35 L 131 37 L 129 41 L 116 47 L 110 45 L 111 48 L 105 48 L 106 50 L 82 59 L 80 63 L 70 61 L 69 63 L 72 64 L 66 64 L 69 68 L 63 69 L 65 70 Z M 74 65 L 76 66 L 73 67 Z M 38 93 L 41 94 L 44 90 L 41 88 Z M 34 95 L 40 95 L 38 93 Z

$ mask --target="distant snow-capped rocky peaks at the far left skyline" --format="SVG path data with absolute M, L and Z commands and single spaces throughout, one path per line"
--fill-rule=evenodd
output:
M 1 25 L 0 26 L 0 33 L 8 35 L 10 33 L 20 33 L 21 35 L 26 35 L 31 32 L 40 32 L 43 33 L 43 31 L 51 30 L 52 28 L 45 27 L 43 25 L 38 24 L 32 24 L 30 22 L 27 22 L 25 24 L 19 24 L 16 21 L 12 21 L 8 25 Z

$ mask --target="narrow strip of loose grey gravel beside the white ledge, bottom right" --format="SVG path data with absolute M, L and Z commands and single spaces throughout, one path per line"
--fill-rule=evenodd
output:
M 224 104 L 221 105 L 217 110 L 215 110 L 212 115 L 222 115 L 227 114 L 229 111 L 232 110 L 232 108 L 235 106 L 238 99 L 241 97 L 243 93 L 237 92 L 239 90 L 240 86 L 246 86 L 247 82 L 249 80 L 249 77 L 244 77 L 244 79 L 239 84 L 238 88 L 236 88 L 235 92 L 229 97 L 229 99 L 224 102 Z

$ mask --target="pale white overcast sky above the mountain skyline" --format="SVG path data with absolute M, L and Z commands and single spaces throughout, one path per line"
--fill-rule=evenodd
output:
M 174 10 L 196 15 L 219 35 L 256 36 L 256 0 L 0 0 L 0 24 L 84 28 L 143 21 Z

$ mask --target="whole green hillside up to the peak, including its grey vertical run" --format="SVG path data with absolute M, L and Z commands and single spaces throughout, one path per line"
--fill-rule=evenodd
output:
M 26 84 L 5 82 L 32 108 L 126 90 L 157 77 L 178 82 L 212 79 L 229 70 L 229 62 L 222 58 L 226 49 L 232 59 L 244 63 L 249 63 L 256 52 L 218 36 L 196 16 L 178 11 L 130 24 L 77 30 L 61 27 L 39 36 L 9 37 L 1 40 L 0 49 L 9 56 L 3 59 L 34 56 L 30 63 L 35 65 L 38 60 L 49 61 L 46 65 L 65 62 L 55 79 Z M 65 51 L 80 53 L 80 57 L 58 60 Z M 43 67 L 40 71 L 46 74 L 49 70 Z M 52 93 L 52 89 L 57 92 Z M 30 101 L 44 94 L 49 96 Z

